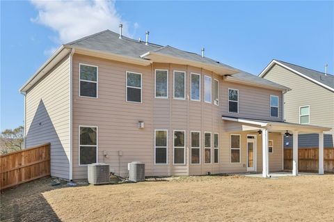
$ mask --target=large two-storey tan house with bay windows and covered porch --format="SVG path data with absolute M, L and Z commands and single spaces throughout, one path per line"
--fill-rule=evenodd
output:
M 25 147 L 51 143 L 51 175 L 67 180 L 86 179 L 95 162 L 127 176 L 131 161 L 148 176 L 267 177 L 283 170 L 287 130 L 329 130 L 283 122 L 289 88 L 203 53 L 109 30 L 61 46 L 20 89 Z

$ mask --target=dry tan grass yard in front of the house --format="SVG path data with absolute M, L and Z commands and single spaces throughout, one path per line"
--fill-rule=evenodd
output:
M 334 175 L 177 177 L 1 193 L 1 221 L 334 221 Z

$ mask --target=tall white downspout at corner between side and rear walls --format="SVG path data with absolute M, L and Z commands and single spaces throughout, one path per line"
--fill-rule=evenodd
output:
M 72 115 L 72 111 L 73 111 L 73 54 L 74 54 L 75 49 L 71 50 L 70 53 L 70 177 L 69 180 L 72 181 L 73 180 L 73 163 L 72 163 L 72 159 L 73 159 L 73 138 L 72 138 L 72 132 L 73 132 L 73 115 Z

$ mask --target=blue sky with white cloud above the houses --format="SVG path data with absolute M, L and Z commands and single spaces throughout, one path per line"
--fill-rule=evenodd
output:
M 1 130 L 22 125 L 18 90 L 51 51 L 120 22 L 253 74 L 272 58 L 334 73 L 333 1 L 1 1 Z

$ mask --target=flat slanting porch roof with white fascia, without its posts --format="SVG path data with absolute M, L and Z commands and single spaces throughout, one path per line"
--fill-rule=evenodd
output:
M 240 122 L 245 127 L 243 131 L 255 129 L 268 129 L 269 132 L 299 132 L 300 134 L 321 133 L 331 130 L 329 127 L 320 127 L 315 125 L 302 125 L 292 122 L 276 122 L 269 120 L 256 120 L 250 118 L 237 118 L 232 116 L 222 116 L 223 120 Z

